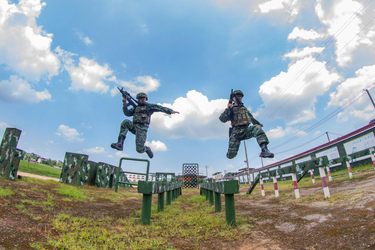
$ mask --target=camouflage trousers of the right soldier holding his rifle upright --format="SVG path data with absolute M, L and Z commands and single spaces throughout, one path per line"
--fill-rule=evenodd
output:
M 233 129 L 231 136 L 229 137 L 228 153 L 226 153 L 226 157 L 228 157 L 229 159 L 233 159 L 234 157 L 236 157 L 237 152 L 240 148 L 241 141 L 253 137 L 257 139 L 259 145 L 263 142 L 269 144 L 266 133 L 264 133 L 263 129 L 259 125 Z

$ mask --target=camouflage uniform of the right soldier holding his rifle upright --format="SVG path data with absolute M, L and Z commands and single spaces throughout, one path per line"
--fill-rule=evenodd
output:
M 242 107 L 245 108 L 245 107 Z M 233 104 L 233 110 L 239 109 L 239 106 L 236 104 Z M 245 108 L 246 109 L 246 108 Z M 226 123 L 229 121 L 228 117 L 228 111 L 229 109 L 226 108 L 224 112 L 220 115 L 219 120 L 223 123 Z M 259 145 L 262 143 L 269 144 L 268 138 L 266 136 L 266 133 L 264 133 L 263 129 L 259 125 L 259 121 L 255 120 L 255 118 L 252 116 L 252 114 L 246 109 L 246 112 L 248 113 L 250 117 L 250 121 L 253 126 L 249 127 L 248 125 L 243 125 L 243 126 L 233 126 L 233 130 L 231 132 L 231 135 L 229 136 L 229 147 L 228 147 L 228 153 L 226 153 L 226 157 L 229 159 L 233 159 L 236 157 L 237 152 L 240 148 L 241 141 L 247 140 L 250 138 L 255 137 L 257 139 L 257 142 Z M 231 123 L 233 123 L 233 118 L 230 120 Z

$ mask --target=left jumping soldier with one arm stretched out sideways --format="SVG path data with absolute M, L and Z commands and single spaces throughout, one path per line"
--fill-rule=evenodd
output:
M 124 115 L 133 117 L 133 121 L 125 119 L 120 126 L 120 134 L 118 135 L 117 143 L 111 144 L 111 148 L 122 151 L 124 140 L 126 138 L 127 131 L 130 131 L 135 135 L 135 149 L 138 153 L 146 152 L 148 157 L 152 158 L 154 154 L 151 151 L 150 147 L 144 145 L 146 142 L 148 125 L 150 125 L 150 117 L 154 112 L 164 112 L 168 115 L 170 114 L 180 114 L 177 111 L 173 111 L 170 108 L 165 108 L 157 104 L 147 103 L 147 95 L 145 93 L 138 93 L 135 97 L 139 105 L 135 108 L 127 109 L 126 100 L 123 98 L 123 112 Z

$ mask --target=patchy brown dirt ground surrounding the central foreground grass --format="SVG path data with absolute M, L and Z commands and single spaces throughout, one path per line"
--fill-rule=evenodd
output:
M 30 243 L 54 234 L 50 221 L 60 213 L 125 218 L 141 208 L 142 198 L 136 189 L 119 191 L 132 196 L 127 197 L 113 196 L 113 190 L 84 187 L 92 201 L 69 201 L 54 190 L 57 185 L 27 178 L 0 180 L 0 187 L 15 192 L 0 197 L 0 250 L 34 249 Z M 375 172 L 357 174 L 354 180 L 334 180 L 329 188 L 329 199 L 324 199 L 319 182 L 300 188 L 301 198 L 295 199 L 293 189 L 279 190 L 280 197 L 275 198 L 273 186 L 266 186 L 265 197 L 260 195 L 259 187 L 250 196 L 244 195 L 247 189 L 242 187 L 235 195 L 236 214 L 254 220 L 250 225 L 238 226 L 241 240 L 207 240 L 199 243 L 199 249 L 375 249 Z M 50 208 L 42 205 L 48 194 L 53 198 Z M 198 190 L 183 190 L 182 195 L 198 195 Z M 25 199 L 39 205 L 25 203 Z M 222 210 L 225 213 L 223 197 Z M 178 238 L 172 245 L 189 249 Z

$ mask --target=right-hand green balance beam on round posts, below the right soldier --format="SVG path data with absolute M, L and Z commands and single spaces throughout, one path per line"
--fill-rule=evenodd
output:
M 211 205 L 215 204 L 215 212 L 221 212 L 221 195 L 225 199 L 225 218 L 228 225 L 236 225 L 236 211 L 234 208 L 234 194 L 240 193 L 238 180 L 201 183 L 201 195 Z

